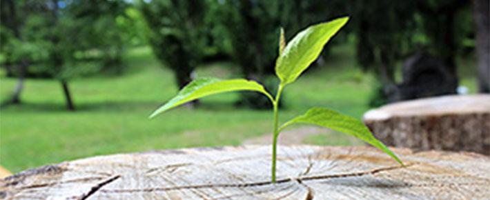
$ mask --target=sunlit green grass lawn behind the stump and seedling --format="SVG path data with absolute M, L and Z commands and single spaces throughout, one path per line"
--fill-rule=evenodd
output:
M 349 47 L 332 52 L 327 66 L 307 72 L 286 88 L 282 121 L 313 106 L 358 118 L 368 109 L 373 76 L 356 68 Z M 199 109 L 178 108 L 149 120 L 148 115 L 177 92 L 173 74 L 159 67 L 148 48 L 132 49 L 124 60 L 129 72 L 122 76 L 70 81 L 76 112 L 65 110 L 57 81 L 28 79 L 23 104 L 1 108 L 0 165 L 19 172 L 98 154 L 239 145 L 271 131 L 271 111 L 233 107 L 236 93 L 208 97 Z M 231 77 L 233 72 L 226 66 L 211 65 L 197 75 Z M 15 81 L 1 77 L 2 101 L 10 96 Z M 462 82 L 474 91 L 474 79 Z M 336 134 L 326 143 L 349 145 L 346 137 Z M 312 141 L 322 144 L 321 140 Z

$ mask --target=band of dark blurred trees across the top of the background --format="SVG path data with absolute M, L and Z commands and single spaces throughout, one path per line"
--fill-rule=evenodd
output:
M 444 61 L 457 79 L 455 58 L 464 53 L 463 39 L 473 37 L 480 91 L 489 92 L 487 0 L 0 1 L 2 66 L 19 80 L 12 103 L 21 102 L 25 77 L 48 77 L 59 80 L 73 109 L 69 80 L 107 68 L 121 72 L 130 34 L 146 37 L 159 61 L 175 73 L 179 88 L 198 66 L 223 59 L 236 63 L 242 77 L 274 88 L 280 27 L 291 39 L 308 25 L 345 15 L 351 21 L 329 45 L 355 35 L 357 61 L 378 75 L 384 92 L 396 85 L 398 63 L 421 51 Z M 125 10 L 132 6 L 146 27 L 135 30 L 116 21 L 130 21 Z M 323 55 L 328 59 L 328 52 Z M 261 98 L 243 93 L 240 103 L 267 107 Z

